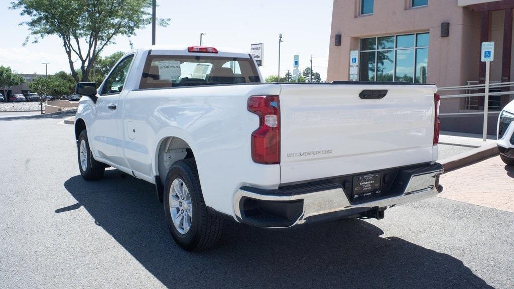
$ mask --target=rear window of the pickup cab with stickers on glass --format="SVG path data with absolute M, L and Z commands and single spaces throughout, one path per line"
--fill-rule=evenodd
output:
M 260 82 L 249 58 L 149 55 L 140 89 Z

